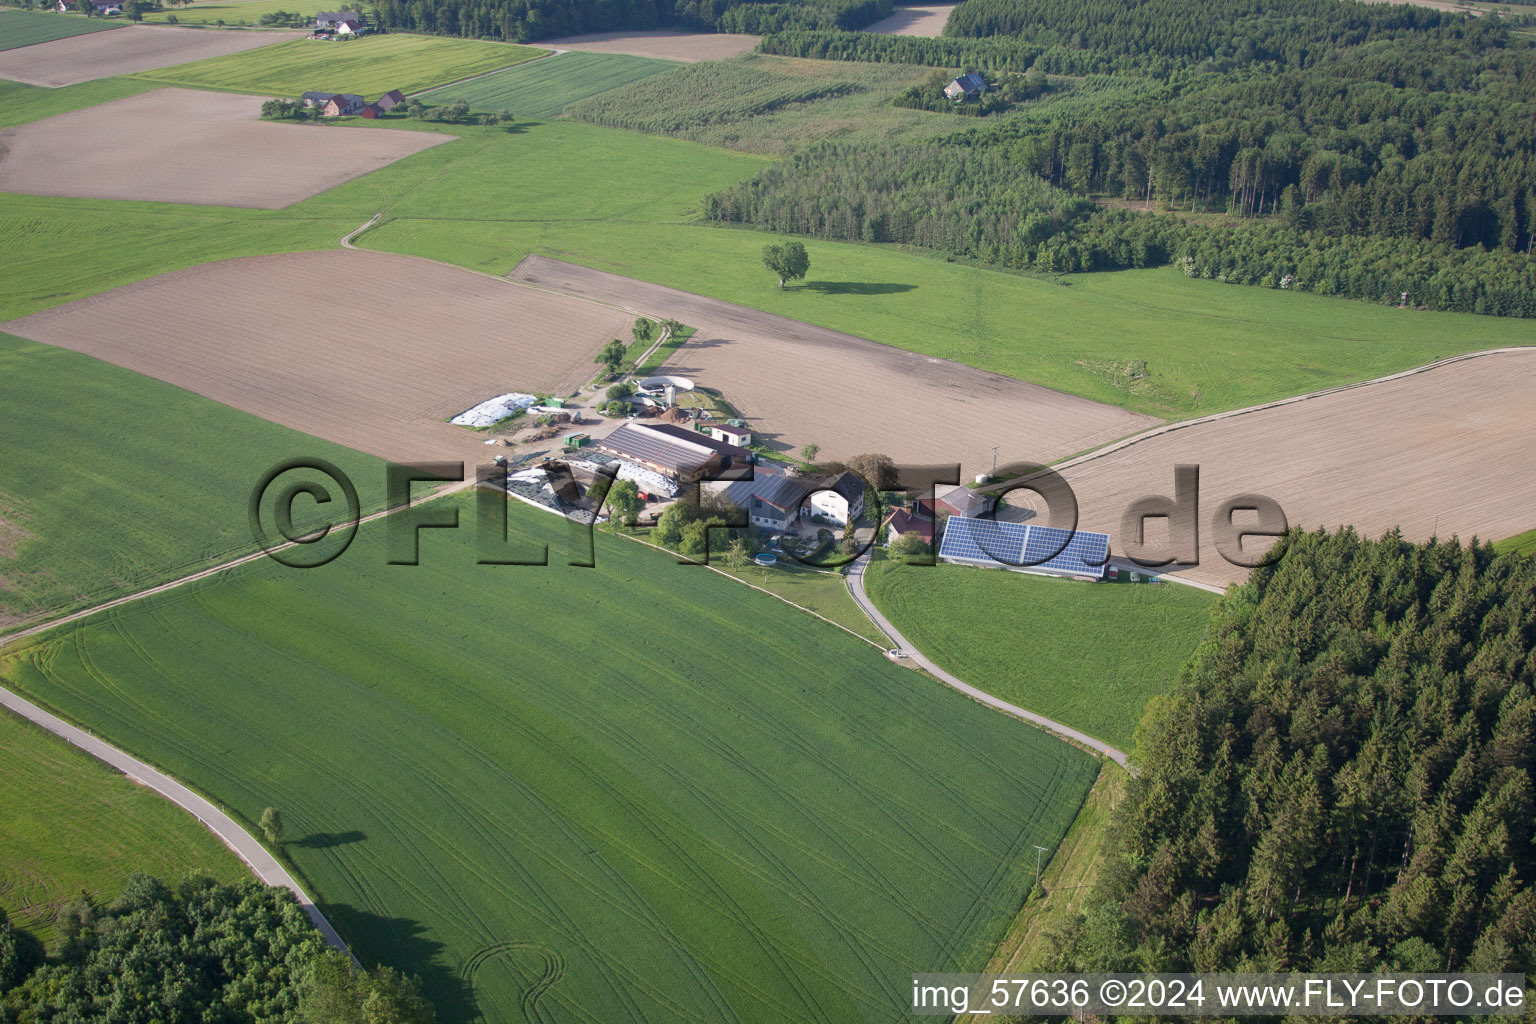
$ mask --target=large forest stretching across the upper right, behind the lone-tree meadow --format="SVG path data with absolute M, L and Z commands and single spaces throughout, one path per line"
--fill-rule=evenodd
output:
M 1536 316 L 1536 49 L 1495 18 L 1338 0 L 966 0 L 946 32 L 788 32 L 763 48 L 1075 78 L 920 152 L 809 150 L 711 197 L 708 215 L 1055 273 L 1177 263 Z

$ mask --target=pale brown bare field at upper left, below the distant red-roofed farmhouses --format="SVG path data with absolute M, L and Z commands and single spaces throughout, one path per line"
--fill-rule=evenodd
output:
M 281 209 L 452 135 L 275 124 L 258 97 L 155 89 L 0 132 L 0 190 Z

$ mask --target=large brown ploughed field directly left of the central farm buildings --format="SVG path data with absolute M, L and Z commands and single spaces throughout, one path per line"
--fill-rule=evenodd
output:
M 570 393 L 630 322 L 468 270 L 341 249 L 178 270 L 5 330 L 386 459 L 478 464 L 485 434 L 447 418 L 507 391 Z

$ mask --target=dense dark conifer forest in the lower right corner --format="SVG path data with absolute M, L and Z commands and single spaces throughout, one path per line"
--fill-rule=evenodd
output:
M 1138 731 L 1054 970 L 1536 970 L 1536 559 L 1292 534 Z

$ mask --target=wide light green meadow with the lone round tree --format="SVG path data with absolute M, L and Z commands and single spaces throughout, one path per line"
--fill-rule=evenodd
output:
M 415 37 L 358 45 L 384 38 Z M 845 243 L 809 241 L 809 281 L 780 292 L 759 256 L 773 236 L 690 223 L 707 192 L 754 173 L 759 157 L 568 120 L 392 126 L 461 138 L 286 210 L 0 195 L 0 318 L 207 259 L 333 247 L 382 212 L 358 244 L 492 273 L 536 252 L 1167 418 L 1530 342 L 1518 319 L 1223 286 L 1174 269 L 1058 284 Z M 553 166 L 581 167 L 582 187 Z M 1147 362 L 1144 385 L 1127 388 L 1114 372 L 1130 361 Z

